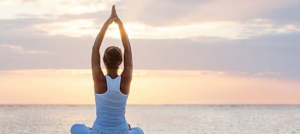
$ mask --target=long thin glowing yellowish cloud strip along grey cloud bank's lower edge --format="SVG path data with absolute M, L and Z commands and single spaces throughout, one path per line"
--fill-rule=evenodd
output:
M 102 70 L 106 73 L 106 69 Z M 120 69 L 119 73 L 123 70 Z M 91 75 L 91 69 L 13 69 L 0 70 L 0 75 Z M 159 70 L 135 69 L 134 76 L 162 75 L 162 76 L 243 76 L 243 77 L 272 77 L 281 76 L 281 72 L 239 72 L 239 71 L 214 71 L 214 70 Z

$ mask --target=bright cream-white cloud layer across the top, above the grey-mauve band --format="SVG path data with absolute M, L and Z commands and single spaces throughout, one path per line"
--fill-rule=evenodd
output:
M 6 2 L 10 6 L 18 6 L 18 4 Z M 94 36 L 109 16 L 110 4 L 116 3 L 118 13 L 124 20 L 132 39 L 193 39 L 198 36 L 241 39 L 300 31 L 299 21 L 295 21 L 299 16 L 295 12 L 299 10 L 297 7 L 300 6 L 300 3 L 297 4 L 298 2 L 295 0 L 234 0 L 231 2 L 164 0 L 155 5 L 155 8 L 152 8 L 157 3 L 155 0 L 57 0 L 54 1 L 56 6 L 52 3 L 46 4 L 47 1 L 25 3 L 22 5 L 24 8 L 17 10 L 19 13 L 10 12 L 8 14 L 13 14 L 12 17 L 0 20 L 0 27 L 13 32 L 29 30 L 48 35 Z M 133 3 L 139 4 L 139 6 L 133 8 L 132 6 L 135 5 Z M 27 4 L 35 7 L 35 10 L 25 8 Z M 89 7 L 97 4 L 101 4 L 105 8 Z M 268 6 L 270 4 L 272 6 Z M 45 9 L 59 9 L 47 9 L 46 12 L 43 12 L 44 8 L 40 9 L 39 5 L 47 5 Z M 222 8 L 220 8 L 221 5 Z M 234 5 L 238 6 L 232 8 Z M 72 10 L 71 6 L 78 12 L 66 12 L 66 9 Z M 80 6 L 78 8 L 84 6 L 84 8 L 82 7 L 81 11 L 77 6 Z M 8 7 L 5 6 L 3 10 Z M 293 9 L 289 9 L 290 7 Z M 64 11 L 59 11 L 61 9 Z M 36 14 L 36 10 L 39 10 L 38 14 Z M 281 21 L 282 17 L 274 16 L 279 12 L 277 10 L 285 11 L 291 17 L 286 21 Z M 294 16 L 294 20 L 292 16 Z M 116 29 L 117 26 L 111 26 L 106 34 L 107 37 L 119 38 L 119 32 Z

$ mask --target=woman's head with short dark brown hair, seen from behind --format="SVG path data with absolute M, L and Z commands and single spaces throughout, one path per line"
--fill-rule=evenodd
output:
M 116 46 L 110 46 L 104 51 L 103 62 L 106 68 L 117 69 L 121 65 L 122 51 Z

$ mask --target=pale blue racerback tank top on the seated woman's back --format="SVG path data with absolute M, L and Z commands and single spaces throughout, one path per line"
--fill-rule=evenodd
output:
M 117 127 L 126 122 L 125 111 L 128 95 L 120 90 L 121 75 L 112 79 L 105 75 L 107 90 L 105 93 L 95 93 L 96 120 L 93 128 Z

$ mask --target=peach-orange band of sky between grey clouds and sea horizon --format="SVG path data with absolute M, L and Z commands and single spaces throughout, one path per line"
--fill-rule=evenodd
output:
M 216 71 L 135 70 L 128 104 L 300 104 L 300 83 Z M 93 104 L 89 69 L 0 73 L 1 104 Z

